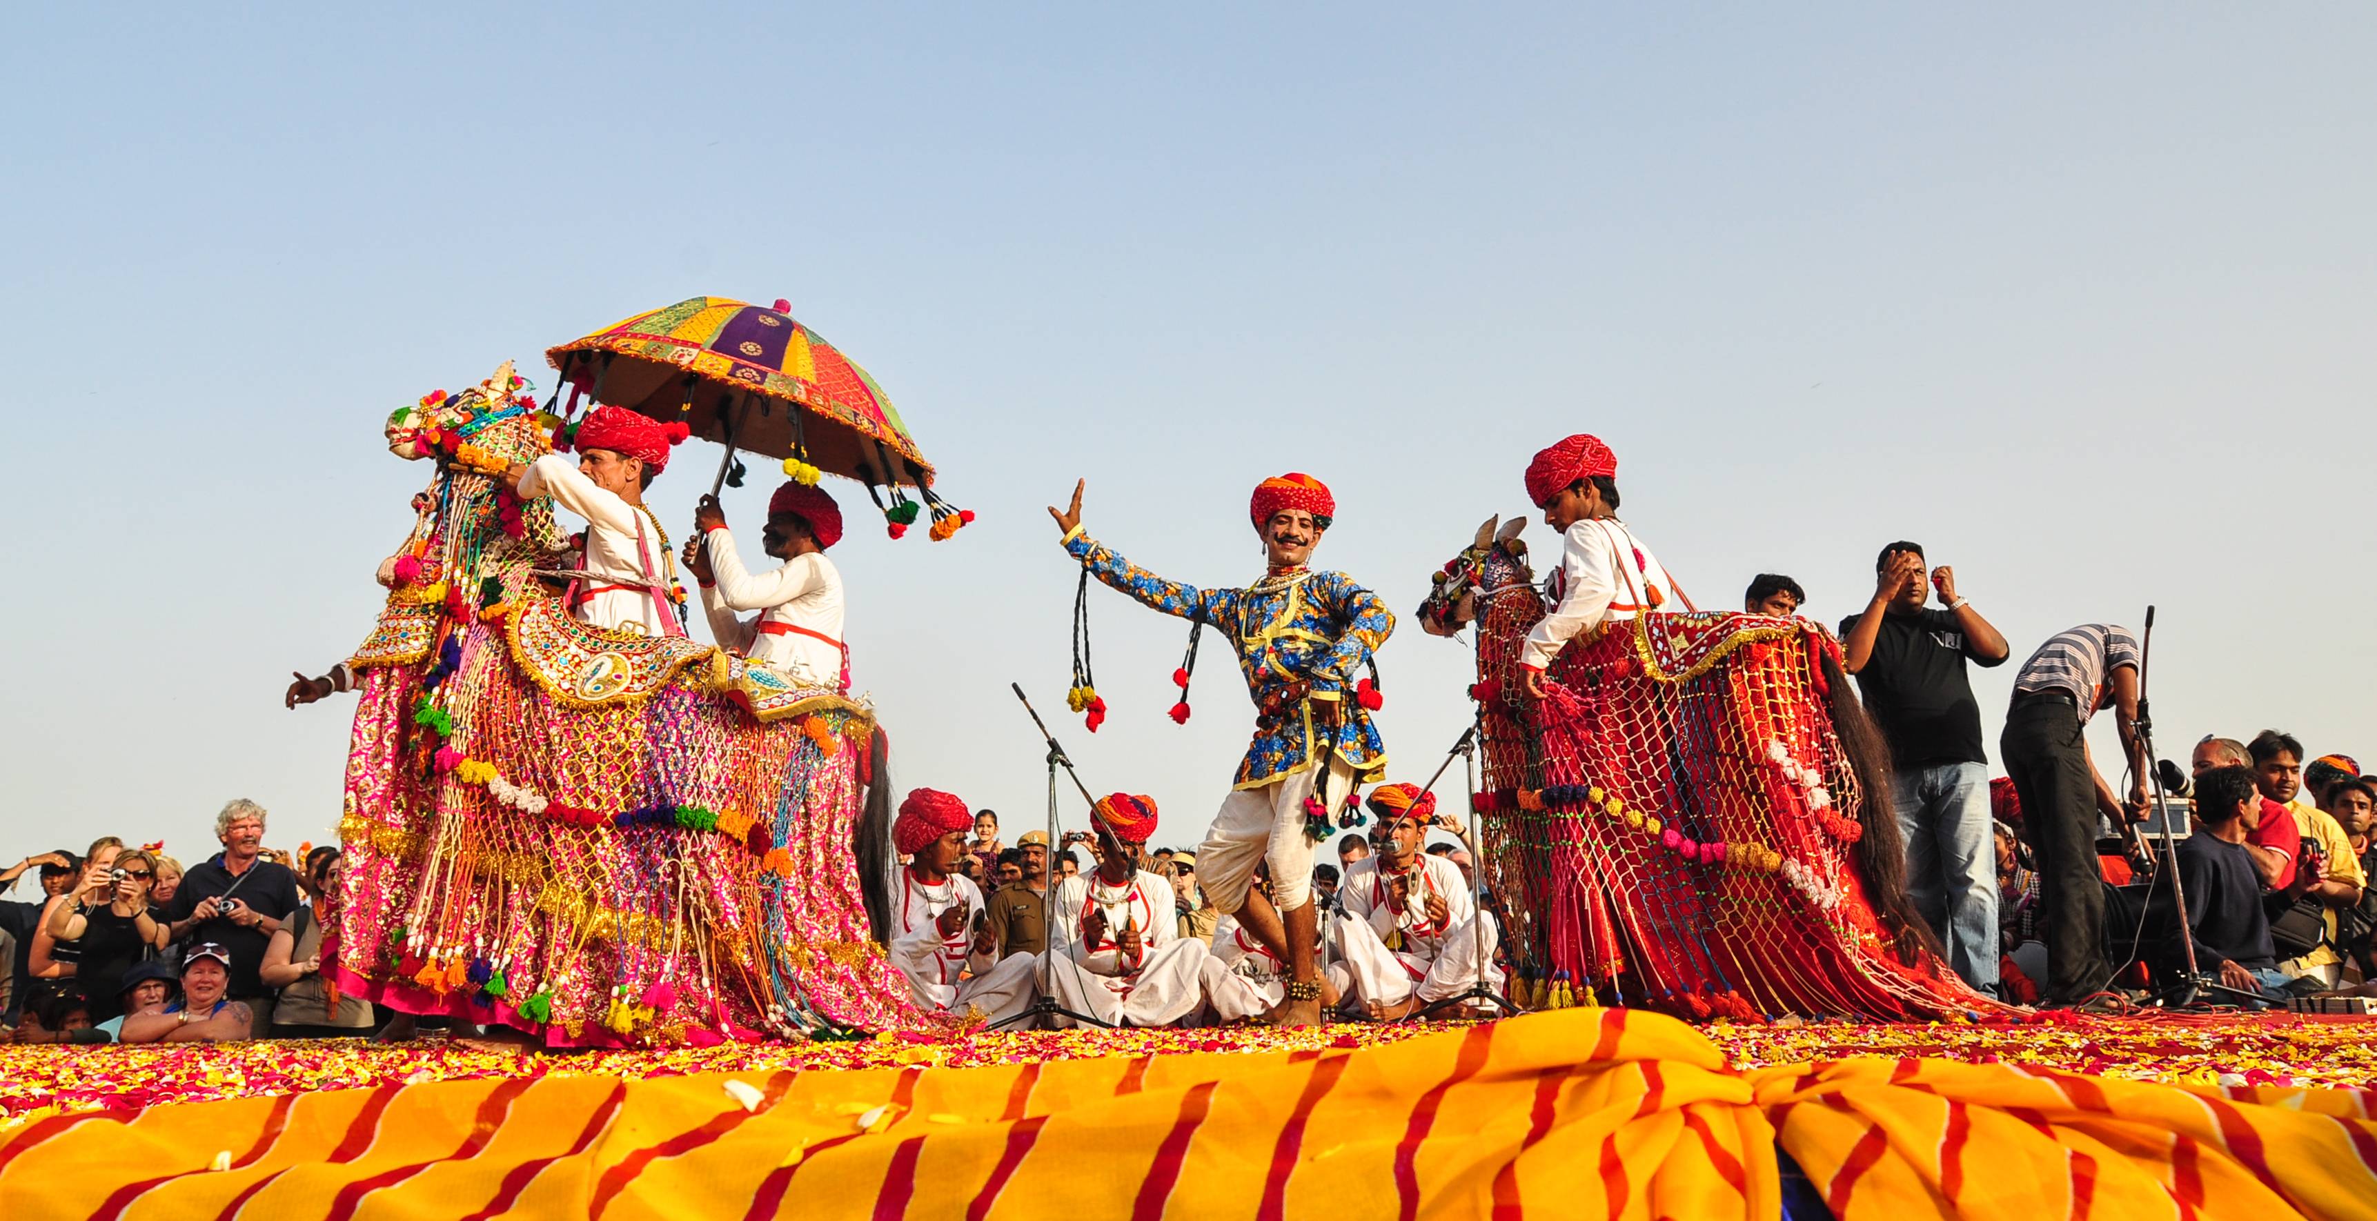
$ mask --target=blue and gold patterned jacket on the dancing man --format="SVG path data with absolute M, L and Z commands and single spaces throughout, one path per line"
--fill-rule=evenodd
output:
M 1101 582 L 1155 610 L 1203 620 L 1227 632 L 1238 651 L 1246 691 L 1255 696 L 1255 741 L 1238 765 L 1236 789 L 1257 789 L 1312 767 L 1319 751 L 1336 751 L 1355 779 L 1372 782 L 1386 770 L 1386 744 L 1355 696 L 1355 670 L 1395 630 L 1395 615 L 1379 594 L 1343 572 L 1295 570 L 1262 577 L 1246 589 L 1198 589 L 1136 568 L 1105 544 L 1074 530 L 1065 551 Z M 1317 725 L 1310 703 L 1265 713 L 1267 696 L 1293 682 L 1310 682 L 1312 701 L 1338 701 L 1336 727 Z M 1336 798 L 1336 793 L 1331 793 Z

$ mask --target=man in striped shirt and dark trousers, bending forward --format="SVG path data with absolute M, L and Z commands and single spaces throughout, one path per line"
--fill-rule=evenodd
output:
M 2137 736 L 2137 637 L 2085 622 L 2056 632 L 2013 679 L 2013 708 L 1997 748 L 2023 803 L 2023 829 L 2039 860 L 2039 924 L 2047 934 L 2047 1002 L 2077 1005 L 2113 981 L 2104 950 L 2104 877 L 2097 872 L 2097 815 L 2146 817 L 2146 751 Z M 2113 708 L 2130 758 L 2130 801 L 2087 751 L 2087 722 Z

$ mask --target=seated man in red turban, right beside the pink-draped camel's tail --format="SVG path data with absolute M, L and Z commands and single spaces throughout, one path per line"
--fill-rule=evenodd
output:
M 1001 1021 L 1032 1007 L 1034 960 L 998 962 L 982 891 L 953 872 L 972 829 L 975 815 L 951 793 L 918 789 L 901 801 L 891 843 L 910 860 L 899 874 L 891 964 L 908 976 L 918 1007 Z

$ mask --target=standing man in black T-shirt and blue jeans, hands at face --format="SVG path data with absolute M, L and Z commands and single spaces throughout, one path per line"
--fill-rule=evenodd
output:
M 1956 572 L 1923 572 L 1923 549 L 1894 542 L 1873 561 L 1873 601 L 1842 620 L 1842 668 L 1890 741 L 1890 805 L 1906 839 L 1906 896 L 1966 983 L 1997 988 L 1997 841 L 1990 755 L 1966 663 L 2001 665 L 2006 637 L 1961 596 Z M 1940 608 L 1925 608 L 1930 591 Z

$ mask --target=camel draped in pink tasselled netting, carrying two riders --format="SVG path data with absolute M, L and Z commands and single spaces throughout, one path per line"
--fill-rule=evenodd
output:
M 573 620 L 549 504 L 497 477 L 554 423 L 509 363 L 387 420 L 390 451 L 435 470 L 347 660 L 361 706 L 326 976 L 554 1048 L 920 1021 L 877 938 L 872 710 L 687 637 Z

